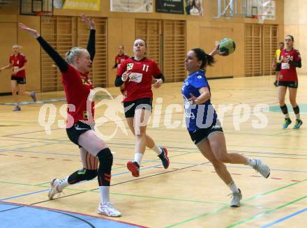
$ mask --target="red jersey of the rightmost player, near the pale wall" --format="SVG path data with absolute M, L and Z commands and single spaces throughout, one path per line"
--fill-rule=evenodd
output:
M 298 50 L 292 49 L 290 51 L 282 50 L 280 53 L 280 73 L 279 81 L 297 82 L 297 69 L 291 66 L 287 61 L 301 61 L 301 54 Z

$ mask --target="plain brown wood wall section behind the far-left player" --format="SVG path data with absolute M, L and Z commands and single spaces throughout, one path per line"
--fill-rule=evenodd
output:
M 12 46 L 22 46 L 22 51 L 29 61 L 27 66 L 27 89 L 40 91 L 40 46 L 33 37 L 24 34 L 17 28 L 22 22 L 35 29 L 40 29 L 40 18 L 18 15 L 17 10 L 1 9 L 0 11 L 0 67 L 8 65 L 9 56 L 12 54 Z M 10 92 L 10 70 L 0 73 L 0 93 Z

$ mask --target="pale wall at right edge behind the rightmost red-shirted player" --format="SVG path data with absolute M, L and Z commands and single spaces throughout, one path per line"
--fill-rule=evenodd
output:
M 307 4 L 306 0 L 285 0 L 285 36 L 294 36 L 294 47 L 301 53 L 300 74 L 307 74 Z

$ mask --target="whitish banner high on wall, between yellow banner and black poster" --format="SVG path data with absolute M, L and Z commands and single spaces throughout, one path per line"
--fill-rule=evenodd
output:
M 112 12 L 153 13 L 153 0 L 110 0 Z

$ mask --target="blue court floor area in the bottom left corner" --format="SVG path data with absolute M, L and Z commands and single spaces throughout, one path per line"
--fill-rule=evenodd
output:
M 57 211 L 50 208 L 0 202 L 0 227 L 63 227 L 63 228 L 133 228 L 135 225 L 89 215 Z

